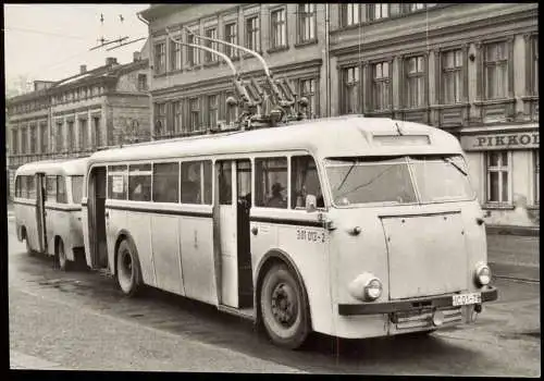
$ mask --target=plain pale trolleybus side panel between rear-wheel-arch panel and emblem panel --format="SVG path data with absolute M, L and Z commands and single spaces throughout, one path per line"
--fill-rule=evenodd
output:
M 171 293 L 184 295 L 177 234 L 178 223 L 180 218 L 175 216 L 151 216 L 152 258 L 157 286 Z

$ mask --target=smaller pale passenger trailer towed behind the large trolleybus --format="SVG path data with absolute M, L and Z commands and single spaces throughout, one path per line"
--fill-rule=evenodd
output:
M 54 256 L 61 270 L 84 259 L 82 190 L 87 159 L 37 161 L 15 173 L 17 238 L 29 254 Z

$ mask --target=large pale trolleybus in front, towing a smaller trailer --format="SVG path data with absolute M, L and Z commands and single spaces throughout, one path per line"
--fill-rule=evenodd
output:
M 89 267 L 127 295 L 252 319 L 282 346 L 426 333 L 497 298 L 463 152 L 438 128 L 301 121 L 98 151 L 85 179 Z

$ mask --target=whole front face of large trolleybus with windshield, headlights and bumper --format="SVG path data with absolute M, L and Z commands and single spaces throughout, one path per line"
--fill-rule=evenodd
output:
M 325 168 L 336 335 L 470 323 L 482 303 L 496 299 L 460 155 L 332 159 Z

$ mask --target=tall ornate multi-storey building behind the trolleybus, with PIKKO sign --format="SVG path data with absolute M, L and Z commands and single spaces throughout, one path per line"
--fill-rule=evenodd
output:
M 236 115 L 220 58 L 173 42 L 203 36 L 262 53 L 309 98 L 310 118 L 362 113 L 457 136 L 493 225 L 540 225 L 536 3 L 157 4 L 149 23 L 151 136 L 198 134 Z M 215 47 L 214 44 L 208 46 Z M 245 77 L 259 62 L 228 47 Z

